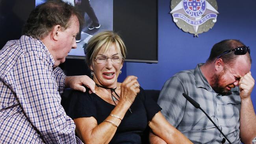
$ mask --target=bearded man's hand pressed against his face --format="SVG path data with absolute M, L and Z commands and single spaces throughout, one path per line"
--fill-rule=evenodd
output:
M 241 100 L 249 98 L 252 93 L 252 89 L 254 87 L 254 79 L 252 78 L 251 72 L 248 72 L 244 76 L 242 76 L 239 80 L 239 90 Z

